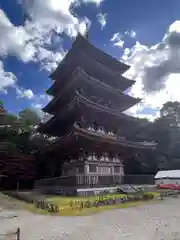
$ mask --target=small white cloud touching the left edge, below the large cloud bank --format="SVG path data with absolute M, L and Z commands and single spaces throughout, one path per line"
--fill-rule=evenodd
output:
M 6 92 L 6 88 L 15 85 L 16 82 L 16 76 L 11 72 L 6 72 L 3 62 L 0 61 L 0 91 Z

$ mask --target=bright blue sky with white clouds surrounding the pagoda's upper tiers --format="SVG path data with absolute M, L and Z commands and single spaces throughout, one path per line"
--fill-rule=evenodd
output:
M 180 100 L 178 19 L 179 0 L 0 0 L 0 99 L 11 112 L 39 112 L 48 76 L 88 22 L 90 41 L 132 66 L 129 94 L 143 102 L 127 113 L 153 120 Z

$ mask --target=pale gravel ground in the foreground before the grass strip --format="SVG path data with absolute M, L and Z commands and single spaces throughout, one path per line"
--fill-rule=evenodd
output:
M 179 205 L 180 199 L 169 198 L 88 217 L 45 216 L 1 209 L 0 236 L 20 227 L 22 240 L 180 240 Z

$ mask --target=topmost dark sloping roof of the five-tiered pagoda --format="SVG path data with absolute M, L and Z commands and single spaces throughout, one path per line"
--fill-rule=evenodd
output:
M 65 58 L 61 61 L 59 66 L 56 68 L 56 70 L 51 74 L 51 78 L 55 79 L 55 77 L 59 73 L 61 64 L 64 64 L 66 62 L 66 59 L 69 56 L 71 56 L 71 58 L 76 58 L 76 54 L 79 51 L 85 52 L 94 61 L 97 61 L 100 64 L 107 66 L 108 68 L 110 68 L 116 73 L 122 74 L 130 68 L 130 66 L 118 61 L 116 58 L 103 52 L 102 50 L 100 50 L 99 48 L 91 44 L 82 35 L 78 34 L 78 36 L 76 37 L 76 40 L 72 44 L 72 48 L 69 50 Z

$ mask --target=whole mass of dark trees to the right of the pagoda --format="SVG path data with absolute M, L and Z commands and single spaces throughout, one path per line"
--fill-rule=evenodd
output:
M 158 143 L 154 152 L 144 157 L 134 156 L 125 162 L 128 174 L 155 174 L 158 170 L 180 169 L 180 103 L 167 102 L 160 110 L 160 118 L 153 123 L 141 121 L 134 128 L 134 138 L 143 135 Z

